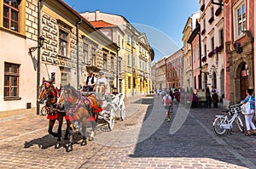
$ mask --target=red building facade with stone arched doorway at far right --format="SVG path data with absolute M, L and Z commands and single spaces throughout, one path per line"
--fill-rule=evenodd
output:
M 227 87 L 225 99 L 236 104 L 254 88 L 254 0 L 224 1 L 224 68 Z

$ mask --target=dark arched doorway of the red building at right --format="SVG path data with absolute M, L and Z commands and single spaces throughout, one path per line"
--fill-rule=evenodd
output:
M 246 90 L 249 87 L 248 76 L 249 76 L 248 65 L 247 63 L 242 62 L 241 71 L 240 71 L 240 93 L 241 93 L 240 99 L 245 99 L 246 97 Z

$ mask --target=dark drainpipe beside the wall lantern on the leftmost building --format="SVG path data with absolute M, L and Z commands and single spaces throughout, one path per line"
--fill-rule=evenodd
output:
M 38 1 L 38 47 L 39 44 L 39 37 L 41 37 L 41 1 Z M 41 48 L 38 48 L 38 76 L 37 76 L 37 99 L 39 97 L 39 86 L 40 86 L 40 60 L 41 60 Z M 37 102 L 37 115 L 39 115 L 39 108 L 40 104 Z

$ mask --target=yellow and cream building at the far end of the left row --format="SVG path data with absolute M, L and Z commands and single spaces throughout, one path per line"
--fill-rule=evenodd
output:
M 150 66 L 154 59 L 154 51 L 150 47 L 145 34 L 137 31 L 125 17 L 116 14 L 106 14 L 100 11 L 85 12 L 81 14 L 86 20 L 104 21 L 112 25 L 119 26 L 119 29 L 125 33 L 119 37 L 119 48 L 123 51 L 125 60 L 124 72 L 124 91 L 125 96 L 149 93 L 151 84 Z

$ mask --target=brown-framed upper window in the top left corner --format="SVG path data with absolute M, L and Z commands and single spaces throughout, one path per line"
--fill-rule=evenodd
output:
M 3 27 L 19 31 L 20 2 L 21 0 L 3 1 Z

